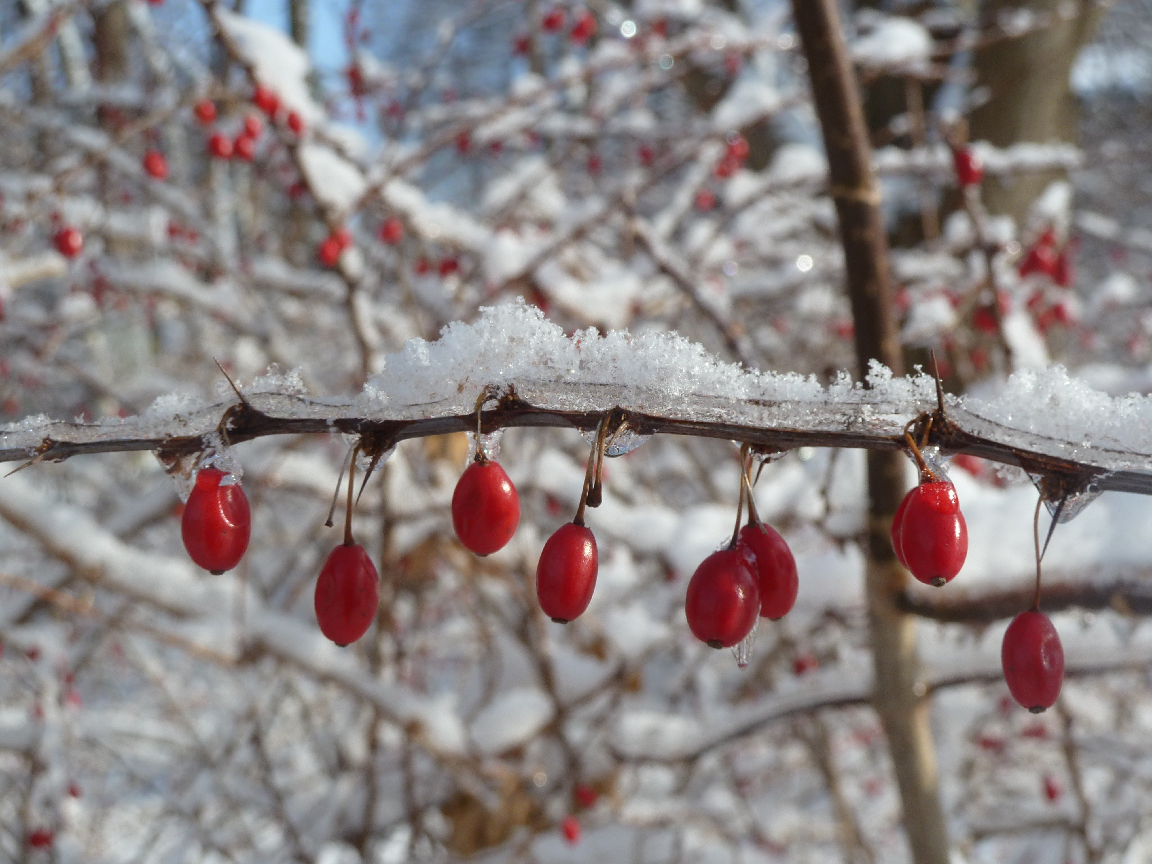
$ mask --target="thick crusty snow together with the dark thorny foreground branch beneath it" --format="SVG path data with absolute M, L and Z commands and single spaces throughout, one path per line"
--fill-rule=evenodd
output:
M 813 377 L 726 364 L 675 333 L 594 329 L 571 336 L 522 301 L 454 323 L 435 342 L 410 340 L 355 397 L 309 396 L 296 376 L 268 376 L 243 403 L 162 396 L 144 414 L 94 423 L 30 417 L 0 427 L 0 461 L 62 460 L 85 453 L 205 448 L 222 430 L 232 442 L 289 433 L 343 432 L 395 442 L 484 427 L 612 427 L 798 446 L 899 449 L 909 420 L 937 407 L 935 381 L 894 378 L 876 364 L 867 387 L 847 373 L 827 387 Z M 1017 372 L 990 397 L 946 397 L 931 438 L 968 453 L 1061 478 L 1066 490 L 1152 493 L 1152 397 L 1113 397 L 1054 366 Z

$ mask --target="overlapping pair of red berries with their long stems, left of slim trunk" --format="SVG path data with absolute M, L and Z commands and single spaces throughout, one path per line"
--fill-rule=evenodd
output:
M 758 615 L 773 621 L 787 615 L 799 590 L 791 550 L 756 511 L 748 449 L 748 445 L 741 448 L 740 503 L 732 541 L 696 568 L 684 600 L 692 635 L 717 649 L 743 642 Z M 741 529 L 745 499 L 748 524 Z

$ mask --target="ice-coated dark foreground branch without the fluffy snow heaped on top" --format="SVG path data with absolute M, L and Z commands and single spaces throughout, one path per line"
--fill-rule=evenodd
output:
M 476 429 L 470 409 L 478 392 L 461 386 L 460 397 L 425 404 L 320 400 L 282 393 L 245 394 L 237 401 L 200 406 L 168 416 L 145 412 L 123 420 L 70 423 L 35 419 L 0 429 L 0 462 L 61 461 L 70 456 L 156 450 L 190 455 L 210 435 L 226 431 L 237 444 L 281 434 L 342 432 L 363 435 L 367 449 L 385 452 L 399 441 Z M 904 425 L 925 408 L 879 401 L 855 391 L 842 401 L 766 401 L 711 395 L 668 395 L 643 387 L 521 380 L 505 382 L 487 403 L 484 431 L 514 426 L 594 430 L 612 414 L 609 432 L 696 435 L 746 441 L 765 450 L 904 447 Z M 469 406 L 469 408 L 465 408 Z M 1152 493 L 1152 454 L 1075 444 L 1009 429 L 960 406 L 934 417 L 930 441 L 948 453 L 965 453 L 1059 479 L 1061 488 L 1090 484 L 1100 491 Z

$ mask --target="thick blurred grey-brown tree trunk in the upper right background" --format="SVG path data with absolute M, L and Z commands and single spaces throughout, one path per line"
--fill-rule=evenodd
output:
M 994 22 L 1006 9 L 1025 7 L 1053 16 L 1049 26 L 1016 39 L 1001 39 L 973 56 L 976 86 L 988 89 L 990 99 L 969 119 L 973 141 L 1006 147 L 1022 141 L 1046 144 L 1076 141 L 1077 106 L 1069 82 L 1073 62 L 1092 38 L 1102 6 L 1090 0 L 1074 5 L 1075 14 L 1060 17 L 1062 0 L 986 0 L 985 21 Z M 1059 172 L 1029 174 L 1002 183 L 984 181 L 984 203 L 993 213 L 1020 222 L 1032 202 Z

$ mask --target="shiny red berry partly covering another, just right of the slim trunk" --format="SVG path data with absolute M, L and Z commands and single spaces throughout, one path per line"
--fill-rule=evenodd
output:
M 960 573 L 968 556 L 968 525 L 956 487 L 947 480 L 922 483 L 902 502 L 899 529 L 903 564 L 926 585 L 941 588 Z

